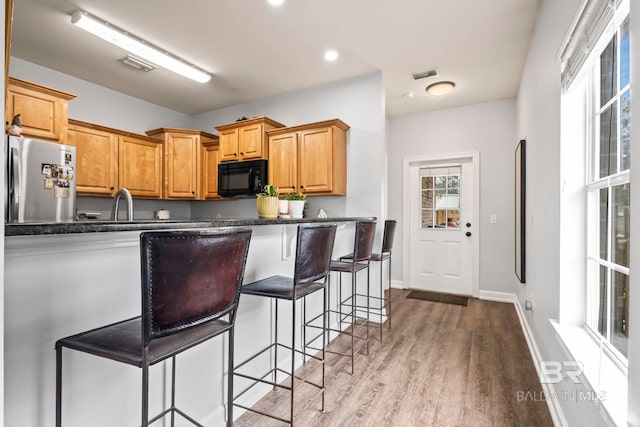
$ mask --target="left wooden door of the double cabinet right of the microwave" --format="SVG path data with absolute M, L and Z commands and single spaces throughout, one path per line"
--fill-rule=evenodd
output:
M 281 194 L 298 192 L 298 133 L 269 137 L 269 183 Z

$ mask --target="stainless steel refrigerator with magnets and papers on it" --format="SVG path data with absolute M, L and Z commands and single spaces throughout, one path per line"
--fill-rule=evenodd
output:
M 67 222 L 76 213 L 76 148 L 7 137 L 7 222 Z

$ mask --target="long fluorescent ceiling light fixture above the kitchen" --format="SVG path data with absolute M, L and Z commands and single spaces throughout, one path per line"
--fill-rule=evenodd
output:
M 82 10 L 73 12 L 71 22 L 83 30 L 109 43 L 113 43 L 135 56 L 139 56 L 153 64 L 195 80 L 198 83 L 206 83 L 211 80 L 210 74 Z

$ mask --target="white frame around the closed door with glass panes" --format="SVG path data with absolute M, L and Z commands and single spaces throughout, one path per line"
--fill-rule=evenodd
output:
M 473 224 L 475 238 L 471 246 L 471 296 L 478 298 L 480 294 L 480 152 L 467 151 L 433 156 L 405 157 L 402 160 L 402 271 L 404 287 L 409 287 L 411 279 L 411 168 L 423 163 L 450 163 L 461 160 L 471 160 L 473 165 Z

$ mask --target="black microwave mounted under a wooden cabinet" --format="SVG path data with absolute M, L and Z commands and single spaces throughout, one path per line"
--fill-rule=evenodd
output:
M 222 197 L 251 197 L 267 183 L 267 161 L 228 162 L 218 165 L 218 194 Z

